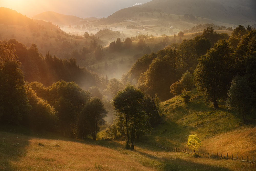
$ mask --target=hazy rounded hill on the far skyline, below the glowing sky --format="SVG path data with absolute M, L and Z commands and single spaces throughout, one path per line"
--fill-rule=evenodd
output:
M 79 18 L 79 17 L 73 16 L 73 15 L 64 15 L 64 14 L 59 14 L 59 13 L 52 12 L 52 11 L 47 11 L 44 13 L 37 14 L 37 15 L 33 16 L 32 18 L 45 20 L 47 22 L 50 21 L 50 22 L 52 22 L 54 24 L 58 24 L 58 25 L 69 25 L 69 24 L 76 25 L 79 23 L 86 23 L 87 21 L 97 19 L 95 17 Z

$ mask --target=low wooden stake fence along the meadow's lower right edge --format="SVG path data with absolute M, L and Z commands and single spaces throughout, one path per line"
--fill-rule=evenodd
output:
M 164 144 L 159 144 L 159 143 L 156 143 L 156 142 L 143 142 L 143 143 L 147 143 L 147 144 L 150 144 L 150 145 L 153 145 L 153 146 L 158 146 L 160 148 L 163 148 L 167 151 L 172 151 L 172 152 L 182 152 L 182 153 L 187 153 L 187 154 L 191 154 L 193 155 L 193 151 L 190 149 L 186 149 L 186 148 L 173 148 L 173 147 L 168 147 L 168 146 L 165 146 Z M 227 155 L 225 156 L 225 154 L 222 154 L 222 153 L 200 153 L 198 152 L 198 157 L 203 157 L 203 158 L 208 158 L 208 157 L 211 157 L 211 158 L 220 158 L 220 159 L 234 159 L 234 160 L 238 160 L 238 161 L 242 161 L 242 162 L 249 162 L 249 163 L 255 163 L 254 162 L 254 157 L 250 157 L 248 158 L 248 156 L 239 156 L 237 154 L 233 154 L 231 153 L 231 155 L 227 153 Z M 245 158 L 244 158 L 245 157 Z M 247 157 L 247 158 L 246 158 Z M 247 160 L 246 160 L 247 159 Z

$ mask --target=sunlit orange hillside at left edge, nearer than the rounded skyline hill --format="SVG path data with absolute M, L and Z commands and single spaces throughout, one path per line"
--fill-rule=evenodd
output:
M 80 51 L 83 47 L 89 47 L 91 40 L 99 41 L 95 37 L 84 38 L 70 35 L 51 22 L 35 20 L 26 17 L 15 10 L 0 8 L 0 41 L 16 39 L 27 47 L 36 43 L 39 53 L 47 52 L 58 58 L 70 58 L 72 52 Z M 82 56 L 74 56 L 78 61 Z

